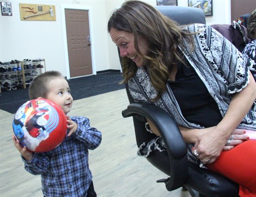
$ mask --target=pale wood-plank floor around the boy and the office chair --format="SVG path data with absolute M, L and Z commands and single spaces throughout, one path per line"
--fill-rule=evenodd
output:
M 156 180 L 167 178 L 146 159 L 136 155 L 132 118 L 123 118 L 128 105 L 125 90 L 76 100 L 69 115 L 86 116 L 103 134 L 101 145 L 89 152 L 89 166 L 98 197 L 190 196 L 187 191 L 167 191 Z M 43 196 L 40 176 L 24 169 L 12 136 L 13 114 L 0 110 L 0 196 Z M 53 196 L 59 197 L 59 196 Z

